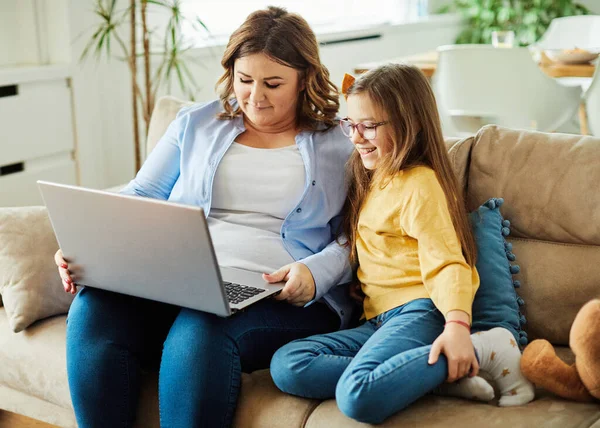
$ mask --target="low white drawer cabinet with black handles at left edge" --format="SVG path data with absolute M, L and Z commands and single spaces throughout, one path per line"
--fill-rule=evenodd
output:
M 0 206 L 42 204 L 36 180 L 77 184 L 67 66 L 0 68 Z

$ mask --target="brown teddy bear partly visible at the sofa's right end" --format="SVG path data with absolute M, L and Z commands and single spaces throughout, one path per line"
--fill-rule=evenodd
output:
M 575 317 L 569 334 L 575 363 L 567 365 L 552 345 L 534 340 L 524 350 L 521 371 L 544 389 L 575 401 L 600 400 L 600 299 L 586 303 Z

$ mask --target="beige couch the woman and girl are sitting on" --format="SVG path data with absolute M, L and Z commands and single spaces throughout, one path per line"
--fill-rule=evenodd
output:
M 158 102 L 148 151 L 181 106 L 169 97 Z M 502 211 L 512 222 L 508 239 L 521 267 L 518 292 L 529 340 L 546 338 L 571 361 L 570 325 L 578 309 L 600 295 L 600 139 L 486 126 L 472 137 L 448 141 L 448 149 L 469 210 L 490 197 L 505 199 Z M 158 427 L 156 374 L 147 374 L 144 382 L 136 426 Z M 13 333 L 0 308 L 0 408 L 76 426 L 65 368 L 64 315 Z M 279 392 L 268 370 L 261 370 L 243 376 L 235 426 L 367 425 L 346 418 L 335 400 Z M 569 402 L 541 389 L 533 402 L 514 408 L 427 396 L 381 426 L 600 428 L 600 404 Z

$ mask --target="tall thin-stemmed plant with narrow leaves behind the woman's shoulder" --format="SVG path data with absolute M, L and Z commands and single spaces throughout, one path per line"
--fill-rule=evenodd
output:
M 106 56 L 127 61 L 133 93 L 136 171 L 142 163 L 138 118 L 141 115 L 147 135 L 159 88 L 163 85 L 170 87 L 172 81 L 176 81 L 181 91 L 192 100 L 198 90 L 188 67 L 188 63 L 194 59 L 186 55 L 191 43 L 182 36 L 181 26 L 186 22 L 203 36 L 208 35 L 208 29 L 198 17 L 185 17 L 181 12 L 181 3 L 182 0 L 94 0 L 93 13 L 99 22 L 92 30 L 81 60 L 94 55 L 97 60 Z M 149 9 L 168 16 L 162 30 L 149 28 Z M 123 32 L 126 30 L 129 34 L 125 37 Z M 139 78 L 140 58 L 143 79 Z

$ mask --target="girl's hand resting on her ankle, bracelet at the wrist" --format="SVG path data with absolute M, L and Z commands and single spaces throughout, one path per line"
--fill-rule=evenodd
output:
M 468 315 L 464 312 L 461 313 L 466 315 L 468 322 Z M 453 318 L 448 317 L 448 320 L 450 319 Z M 462 317 L 460 319 L 464 321 Z M 470 377 L 476 376 L 479 372 L 479 363 L 475 356 L 473 342 L 471 342 L 471 332 L 463 325 L 458 323 L 446 324 L 444 332 L 433 342 L 429 353 L 429 364 L 435 364 L 440 353 L 443 353 L 448 359 L 447 382 L 449 383 L 467 375 Z

